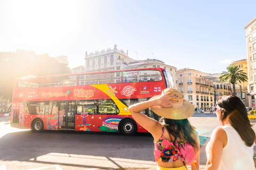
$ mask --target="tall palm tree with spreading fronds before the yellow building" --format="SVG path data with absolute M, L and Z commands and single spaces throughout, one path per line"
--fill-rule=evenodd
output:
M 233 85 L 233 94 L 235 94 L 235 84 L 238 84 L 238 82 L 241 83 L 247 81 L 247 73 L 243 72 L 243 70 L 239 70 L 237 65 L 228 66 L 227 70 L 228 71 L 221 73 L 219 79 L 220 82 L 229 81 L 229 83 Z

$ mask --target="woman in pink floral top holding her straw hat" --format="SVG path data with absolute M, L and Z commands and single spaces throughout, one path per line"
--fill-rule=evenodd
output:
M 160 116 L 160 120 L 141 113 L 147 108 Z M 188 165 L 192 170 L 199 169 L 199 138 L 188 121 L 195 109 L 180 91 L 164 89 L 162 95 L 129 106 L 129 111 L 153 135 L 157 170 L 183 170 Z

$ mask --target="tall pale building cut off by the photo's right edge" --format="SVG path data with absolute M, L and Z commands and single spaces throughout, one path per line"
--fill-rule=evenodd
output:
M 248 106 L 255 106 L 256 95 L 256 18 L 245 27 L 247 68 L 248 68 Z

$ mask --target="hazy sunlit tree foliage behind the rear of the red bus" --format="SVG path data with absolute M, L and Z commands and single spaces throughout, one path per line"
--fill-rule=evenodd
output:
M 11 99 L 14 81 L 29 75 L 67 74 L 71 70 L 47 54 L 36 55 L 34 52 L 17 50 L 17 52 L 0 53 L 0 96 Z

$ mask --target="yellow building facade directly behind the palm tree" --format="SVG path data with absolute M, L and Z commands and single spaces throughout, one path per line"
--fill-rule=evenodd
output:
M 229 66 L 234 66 L 234 65 L 237 65 L 239 67 L 239 70 L 242 70 L 244 73 L 248 74 L 247 59 L 238 60 L 229 64 Z M 245 106 L 249 105 L 248 95 L 246 95 L 248 94 L 247 85 L 248 85 L 248 81 L 241 82 L 240 84 L 235 84 L 236 96 L 241 98 Z

